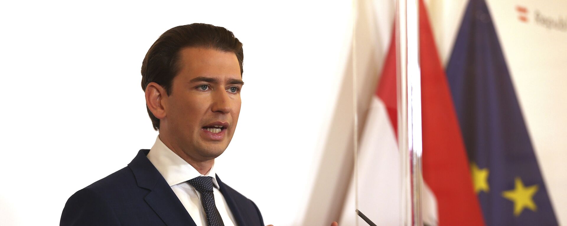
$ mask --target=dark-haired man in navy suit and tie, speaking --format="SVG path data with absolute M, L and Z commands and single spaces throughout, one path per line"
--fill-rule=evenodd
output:
M 163 33 L 142 62 L 147 111 L 159 131 L 117 172 L 73 194 L 61 225 L 264 225 L 251 200 L 214 173 L 240 113 L 242 43 L 210 24 Z

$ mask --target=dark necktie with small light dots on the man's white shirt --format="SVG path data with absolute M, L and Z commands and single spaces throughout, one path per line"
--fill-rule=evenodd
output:
M 187 182 L 201 193 L 201 203 L 205 209 L 208 226 L 225 226 L 221 214 L 218 213 L 217 206 L 214 204 L 213 177 L 199 176 Z

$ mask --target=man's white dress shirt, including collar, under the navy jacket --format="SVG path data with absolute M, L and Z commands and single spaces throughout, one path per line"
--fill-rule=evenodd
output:
M 181 201 L 197 226 L 207 226 L 207 219 L 205 210 L 201 204 L 201 193 L 195 190 L 187 181 L 198 176 L 213 177 L 214 201 L 219 214 L 221 214 L 222 221 L 225 223 L 225 226 L 236 225 L 234 216 L 232 216 L 232 212 L 226 204 L 225 197 L 223 197 L 221 191 L 218 190 L 219 186 L 217 178 L 215 177 L 214 164 L 208 173 L 202 175 L 197 169 L 187 163 L 187 161 L 181 159 L 179 155 L 163 144 L 159 136 L 155 139 L 154 146 L 151 147 L 147 158 L 151 161 L 151 164 L 158 169 L 163 178 L 166 179 L 167 184 L 170 185 L 171 190 L 177 195 L 177 198 L 179 198 L 179 201 Z

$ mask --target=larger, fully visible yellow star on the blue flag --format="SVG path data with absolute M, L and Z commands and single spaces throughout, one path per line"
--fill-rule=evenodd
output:
M 524 187 L 522 180 L 519 177 L 515 179 L 516 187 L 514 190 L 507 190 L 502 192 L 502 196 L 514 202 L 514 216 L 522 214 L 524 208 L 532 211 L 537 211 L 538 206 L 534 202 L 534 194 L 538 192 L 538 185 Z

